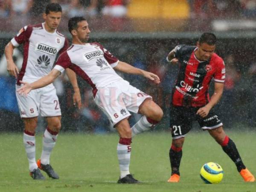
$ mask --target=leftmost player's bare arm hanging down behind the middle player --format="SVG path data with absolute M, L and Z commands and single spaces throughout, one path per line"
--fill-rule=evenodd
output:
M 66 74 L 74 89 L 73 105 L 76 105 L 77 103 L 77 106 L 80 109 L 82 106 L 82 102 L 81 102 L 81 94 L 80 94 L 79 86 L 77 84 L 76 73 L 73 70 L 67 68 Z

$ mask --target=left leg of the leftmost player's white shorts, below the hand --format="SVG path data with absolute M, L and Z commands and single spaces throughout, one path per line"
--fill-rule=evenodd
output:
M 20 86 L 16 85 L 16 90 Z M 38 116 L 38 108 L 40 105 L 39 98 L 40 95 L 37 90 L 32 90 L 27 96 L 21 96 L 19 93 L 16 93 L 17 104 L 19 107 L 20 117 L 21 118 L 32 118 Z

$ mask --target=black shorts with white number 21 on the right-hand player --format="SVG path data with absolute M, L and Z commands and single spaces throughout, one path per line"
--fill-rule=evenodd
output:
M 222 126 L 222 122 L 214 112 L 214 109 L 211 109 L 209 114 L 202 118 L 196 114 L 199 108 L 201 107 L 188 108 L 171 105 L 170 128 L 172 130 L 173 139 L 185 137 L 185 135 L 191 130 L 193 121 L 198 121 L 203 130 L 215 129 Z

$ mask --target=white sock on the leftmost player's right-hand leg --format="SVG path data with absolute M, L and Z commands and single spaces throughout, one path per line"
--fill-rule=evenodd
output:
M 52 149 L 55 146 L 57 135 L 52 135 L 47 131 L 47 129 L 44 131 L 44 138 L 43 138 L 43 151 L 41 154 L 41 164 L 47 165 L 50 164 L 50 154 L 52 152 Z

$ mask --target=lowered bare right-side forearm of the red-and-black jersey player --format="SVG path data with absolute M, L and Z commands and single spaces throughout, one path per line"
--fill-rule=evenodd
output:
M 224 83 L 214 83 L 214 93 L 211 96 L 210 102 L 207 103 L 204 107 L 198 109 L 197 114 L 201 117 L 206 117 L 209 111 L 213 108 L 214 105 L 218 103 L 221 99 L 222 93 L 224 90 Z

